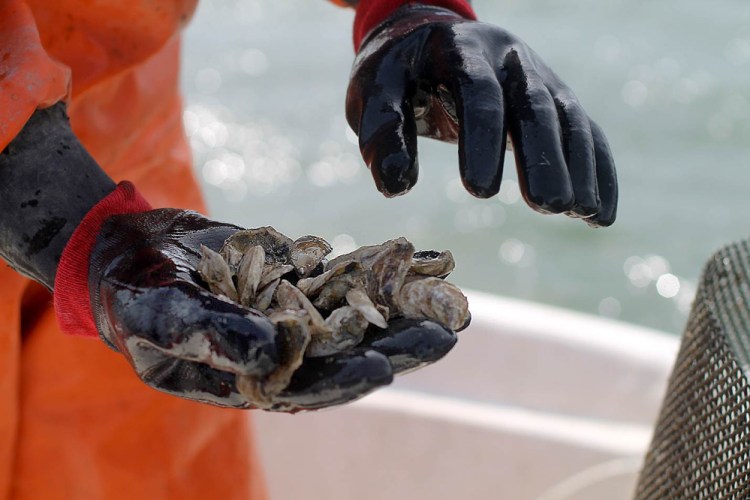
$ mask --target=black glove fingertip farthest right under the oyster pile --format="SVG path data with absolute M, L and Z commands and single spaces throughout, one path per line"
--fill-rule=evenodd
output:
M 456 334 L 439 323 L 400 318 L 389 322 L 388 329 L 368 331 L 357 349 L 372 349 L 387 356 L 397 375 L 434 363 L 457 341 Z

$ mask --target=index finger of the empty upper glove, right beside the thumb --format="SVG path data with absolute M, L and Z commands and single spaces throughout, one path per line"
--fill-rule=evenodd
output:
M 470 72 L 452 78 L 459 119 L 458 155 L 461 179 L 478 198 L 500 191 L 507 127 L 503 93 L 492 68 L 484 60 L 463 61 Z

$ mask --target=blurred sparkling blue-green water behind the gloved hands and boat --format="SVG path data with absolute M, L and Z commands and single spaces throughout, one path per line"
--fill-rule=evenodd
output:
M 404 235 L 451 249 L 460 286 L 679 332 L 703 262 L 750 236 L 750 3 L 474 5 L 607 131 L 621 183 L 612 228 L 532 212 L 512 168 L 498 199 L 473 199 L 455 148 L 432 141 L 417 187 L 383 198 L 344 120 L 352 13 L 323 0 L 204 1 L 187 29 L 185 124 L 213 217 L 339 251 Z

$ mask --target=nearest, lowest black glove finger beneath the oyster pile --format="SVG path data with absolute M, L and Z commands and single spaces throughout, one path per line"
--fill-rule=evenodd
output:
M 307 358 L 292 381 L 274 399 L 274 411 L 317 410 L 359 399 L 393 381 L 384 355 L 364 350 Z

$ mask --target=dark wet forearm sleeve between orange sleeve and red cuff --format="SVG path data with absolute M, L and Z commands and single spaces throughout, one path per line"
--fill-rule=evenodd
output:
M 52 290 L 73 231 L 114 189 L 70 129 L 64 105 L 36 111 L 0 153 L 0 256 Z

